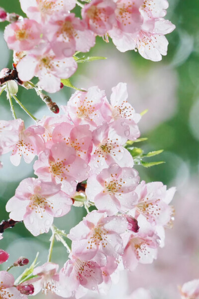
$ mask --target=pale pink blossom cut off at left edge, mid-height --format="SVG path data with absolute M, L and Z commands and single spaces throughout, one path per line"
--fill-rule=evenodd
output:
M 0 121 L 0 154 L 11 151 L 19 140 L 19 132 L 23 127 L 21 119 Z

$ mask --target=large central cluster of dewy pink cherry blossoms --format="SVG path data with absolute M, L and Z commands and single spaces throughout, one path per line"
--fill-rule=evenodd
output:
M 6 204 L 9 217 L 38 236 L 49 231 L 54 217 L 77 206 L 79 196 L 88 211 L 67 235 L 72 247 L 60 272 L 51 262 L 34 269 L 37 277 L 28 281 L 34 294 L 41 289 L 64 298 L 80 298 L 87 290 L 105 293 L 115 273 L 152 263 L 164 246 L 175 188 L 140 182 L 125 144 L 139 138 L 141 116 L 127 97 L 125 83 L 112 88 L 110 102 L 94 86 L 75 92 L 62 106 L 63 115 L 44 117 L 27 129 L 20 119 L 0 121 L 2 154 L 11 152 L 14 165 L 22 156 L 27 163 L 37 156 L 38 178 L 20 182 Z

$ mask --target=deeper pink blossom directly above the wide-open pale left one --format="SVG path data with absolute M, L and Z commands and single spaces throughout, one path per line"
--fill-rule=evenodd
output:
M 69 195 L 76 192 L 77 181 L 88 178 L 90 170 L 88 164 L 76 155 L 76 150 L 64 142 L 55 143 L 41 152 L 33 168 L 40 179 L 62 183 L 62 190 Z

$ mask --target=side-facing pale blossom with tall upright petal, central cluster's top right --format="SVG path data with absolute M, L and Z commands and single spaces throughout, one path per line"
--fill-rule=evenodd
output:
M 127 98 L 126 83 L 120 82 L 117 86 L 112 88 L 112 94 L 110 96 L 112 117 L 114 120 L 122 119 L 124 124 L 130 128 L 128 139 L 135 140 L 140 136 L 137 123 L 140 121 L 141 116 L 135 113 L 131 104 L 127 102 Z

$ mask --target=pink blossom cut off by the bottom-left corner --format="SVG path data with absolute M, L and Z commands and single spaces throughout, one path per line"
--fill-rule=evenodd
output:
M 0 298 L 27 299 L 14 287 L 14 277 L 6 271 L 0 271 Z

